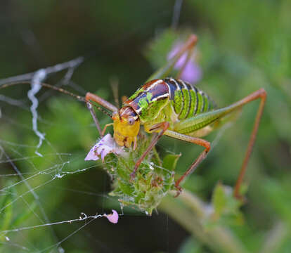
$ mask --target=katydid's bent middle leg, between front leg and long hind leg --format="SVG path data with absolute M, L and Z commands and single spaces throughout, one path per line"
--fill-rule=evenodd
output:
M 183 181 L 183 179 L 186 178 L 186 176 L 188 176 L 191 173 L 193 173 L 193 171 L 195 171 L 195 169 L 198 167 L 198 165 L 203 160 L 205 160 L 205 158 L 207 156 L 207 153 L 209 152 L 211 147 L 210 147 L 209 141 L 205 141 L 202 138 L 196 138 L 196 137 L 193 137 L 193 136 L 180 134 L 180 133 L 178 133 L 176 131 L 167 130 L 167 131 L 165 131 L 164 135 L 167 135 L 167 136 L 170 136 L 172 138 L 176 138 L 176 139 L 179 139 L 179 140 L 182 140 L 182 141 L 188 141 L 190 143 L 194 143 L 194 144 L 200 145 L 200 146 L 205 148 L 205 150 L 203 150 L 202 153 L 200 153 L 200 155 L 193 162 L 193 164 L 191 164 L 190 167 L 185 171 L 185 173 L 176 181 L 175 186 L 176 186 L 176 188 L 178 190 L 178 193 L 177 193 L 176 196 L 178 196 L 181 193 L 181 190 L 182 190 L 182 188 L 180 186 L 180 183 Z

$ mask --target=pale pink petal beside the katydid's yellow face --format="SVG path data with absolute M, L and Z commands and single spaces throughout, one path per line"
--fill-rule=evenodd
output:
M 111 137 L 110 134 L 106 134 L 103 138 L 101 138 L 98 143 L 93 145 L 93 148 L 89 151 L 89 153 L 85 157 L 85 161 L 89 160 L 99 160 L 101 157 L 102 162 L 104 162 L 104 157 L 110 153 L 115 153 L 115 155 L 122 154 L 123 148 L 115 143 L 115 140 Z

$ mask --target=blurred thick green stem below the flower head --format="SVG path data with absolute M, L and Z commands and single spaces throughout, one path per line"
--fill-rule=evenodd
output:
M 209 215 L 211 208 L 186 190 L 176 198 L 164 197 L 160 204 L 162 212 L 169 214 L 172 219 L 195 238 L 208 245 L 214 252 L 247 252 L 243 243 L 227 228 L 216 226 L 206 230 L 203 227 L 203 219 Z

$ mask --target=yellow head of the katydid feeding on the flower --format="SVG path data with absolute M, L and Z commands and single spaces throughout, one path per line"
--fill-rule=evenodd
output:
M 140 120 L 130 106 L 124 106 L 112 115 L 114 138 L 118 145 L 136 148 L 136 136 L 138 135 Z

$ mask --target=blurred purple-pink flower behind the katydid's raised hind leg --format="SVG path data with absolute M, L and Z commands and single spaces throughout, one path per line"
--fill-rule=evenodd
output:
M 168 59 L 172 59 L 174 56 L 176 56 L 176 53 L 179 52 L 179 50 L 183 47 L 183 44 L 181 42 L 176 43 L 172 50 L 168 54 Z M 174 69 L 181 70 L 184 63 L 187 60 L 187 53 L 184 53 L 179 60 L 174 65 Z M 186 82 L 190 82 L 191 84 L 195 84 L 198 82 L 202 77 L 202 70 L 198 66 L 198 64 L 195 63 L 194 56 L 190 56 L 190 59 L 188 60 L 188 63 L 186 63 L 186 66 L 181 73 L 181 79 L 183 79 Z

